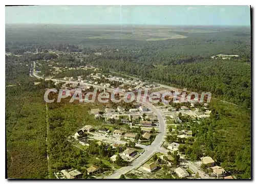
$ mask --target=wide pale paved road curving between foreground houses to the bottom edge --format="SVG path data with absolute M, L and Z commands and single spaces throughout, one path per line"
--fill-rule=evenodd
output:
M 114 174 L 108 177 L 105 177 L 105 179 L 118 179 L 121 176 L 121 174 L 125 174 L 133 169 L 137 169 L 142 164 L 144 164 L 146 160 L 148 160 L 151 156 L 153 156 L 154 153 L 160 150 L 160 147 L 164 141 L 164 136 L 165 136 L 165 128 L 166 128 L 165 122 L 163 120 L 162 114 L 158 111 L 158 109 L 154 105 L 152 105 L 149 102 L 145 102 L 144 105 L 151 108 L 152 111 L 154 111 L 157 115 L 157 118 L 159 121 L 158 135 L 156 136 L 154 142 L 150 146 L 147 146 L 147 149 L 144 151 L 144 153 L 132 162 L 131 166 L 123 167 L 117 170 Z

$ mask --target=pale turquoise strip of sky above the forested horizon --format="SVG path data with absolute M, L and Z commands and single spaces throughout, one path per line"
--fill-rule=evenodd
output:
M 19 6 L 6 24 L 250 26 L 249 6 Z

